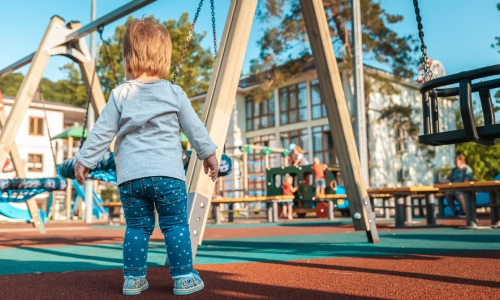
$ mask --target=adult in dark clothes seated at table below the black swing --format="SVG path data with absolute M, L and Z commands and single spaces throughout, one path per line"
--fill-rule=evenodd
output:
M 474 174 L 472 168 L 467 165 L 467 159 L 462 153 L 457 153 L 455 156 L 455 167 L 451 169 L 451 174 L 448 176 L 444 183 L 448 182 L 468 182 L 474 180 Z M 457 199 L 460 205 L 460 212 L 457 211 L 455 207 L 454 199 Z M 451 210 L 455 216 L 459 218 L 465 218 L 465 196 L 462 192 L 451 192 L 446 193 L 446 200 L 448 205 L 450 205 Z

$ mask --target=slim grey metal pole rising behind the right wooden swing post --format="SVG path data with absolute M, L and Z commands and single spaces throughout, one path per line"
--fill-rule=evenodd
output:
M 353 49 L 353 71 L 354 71 L 354 101 L 353 111 L 357 113 L 354 123 L 354 134 L 359 151 L 361 172 L 363 180 L 369 186 L 368 173 L 368 150 L 366 138 L 365 117 L 365 86 L 363 76 L 363 42 L 361 40 L 361 13 L 359 0 L 351 0 L 352 3 L 352 49 Z

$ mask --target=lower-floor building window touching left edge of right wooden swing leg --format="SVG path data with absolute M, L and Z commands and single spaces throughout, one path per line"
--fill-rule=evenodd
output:
M 330 126 L 312 128 L 313 156 L 327 165 L 338 165 L 337 153 L 333 148 Z

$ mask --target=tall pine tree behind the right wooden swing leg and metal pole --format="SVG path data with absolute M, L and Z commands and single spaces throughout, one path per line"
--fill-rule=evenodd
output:
M 361 0 L 362 42 L 363 51 L 378 62 L 391 67 L 397 77 L 414 77 L 417 60 L 413 52 L 418 48 L 413 36 L 399 36 L 388 26 L 403 20 L 401 15 L 387 13 L 378 1 Z M 349 0 L 324 0 L 326 17 L 330 27 L 332 43 L 338 59 L 343 62 L 341 71 L 352 74 L 352 47 L 351 47 L 351 7 Z M 287 11 L 285 13 L 285 11 Z M 269 0 L 260 3 L 258 16 L 262 21 L 270 24 L 264 30 L 258 44 L 261 51 L 258 59 L 252 60 L 251 71 L 253 76 L 259 77 L 263 84 L 255 89 L 253 94 L 257 99 L 270 97 L 270 91 L 283 85 L 286 80 L 300 70 L 304 61 L 311 61 L 311 51 L 305 23 L 298 0 Z M 276 23 L 276 20 L 278 22 Z M 274 22 L 274 23 L 273 23 Z M 300 58 L 288 62 L 287 68 L 280 68 L 284 61 Z M 387 76 L 378 72 L 365 72 L 365 114 L 368 121 L 370 93 L 377 90 L 384 94 L 399 93 Z M 397 113 L 397 109 L 392 110 Z M 387 118 L 395 118 L 387 114 Z M 411 118 L 410 118 L 411 120 Z M 368 124 L 367 124 L 368 125 Z M 368 131 L 368 126 L 367 131 Z M 408 126 L 411 128 L 412 126 Z M 370 162 L 369 162 L 370 164 Z

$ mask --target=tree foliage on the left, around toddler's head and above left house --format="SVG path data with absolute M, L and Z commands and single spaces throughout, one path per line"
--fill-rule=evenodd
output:
M 122 39 L 125 34 L 126 24 L 131 20 L 132 17 L 129 17 L 125 25 L 117 26 L 114 35 L 105 41 L 106 50 L 108 50 L 110 59 L 113 62 L 119 83 L 125 79 L 121 56 Z M 179 20 L 168 20 L 162 22 L 162 24 L 169 30 L 172 39 L 171 73 L 165 78 L 166 80 L 171 80 L 182 48 L 184 47 L 184 42 L 191 28 L 191 22 L 189 21 L 188 14 L 184 13 Z M 193 34 L 179 76 L 177 77 L 176 84 L 180 85 L 189 97 L 205 92 L 210 82 L 215 58 L 210 49 L 204 49 L 200 44 L 205 36 L 206 32 Z M 61 80 L 53 82 L 47 78 L 42 78 L 41 87 L 44 98 L 50 101 L 85 107 L 87 91 L 78 66 L 74 63 L 67 63 L 60 70 L 64 73 L 64 78 Z M 97 71 L 107 98 L 110 91 L 116 87 L 116 81 L 113 78 L 103 45 L 99 49 Z M 10 74 L 0 79 L 0 89 L 2 89 L 3 94 L 6 96 L 16 96 L 23 79 L 24 76 L 20 73 Z

